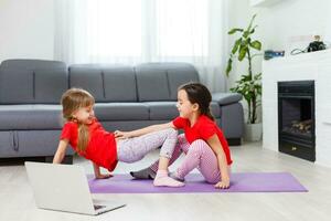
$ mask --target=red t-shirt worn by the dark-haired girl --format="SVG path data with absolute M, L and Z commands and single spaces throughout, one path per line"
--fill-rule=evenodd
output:
M 178 129 L 184 130 L 189 144 L 192 144 L 196 139 L 203 139 L 206 141 L 210 137 L 216 134 L 225 152 L 227 165 L 232 164 L 229 148 L 223 135 L 223 131 L 211 118 L 205 115 L 201 115 L 197 122 L 192 127 L 190 125 L 190 120 L 183 117 L 177 117 L 172 120 L 172 124 Z

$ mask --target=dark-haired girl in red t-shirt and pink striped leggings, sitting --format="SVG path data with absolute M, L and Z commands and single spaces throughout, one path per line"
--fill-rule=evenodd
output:
M 189 83 L 179 87 L 178 110 L 180 116 L 170 123 L 156 125 L 156 128 L 183 129 L 178 136 L 178 145 L 173 151 L 170 165 L 183 151 L 183 162 L 171 173 L 171 177 L 183 181 L 184 177 L 197 168 L 205 180 L 216 188 L 229 187 L 229 167 L 232 164 L 227 141 L 214 122 L 210 110 L 212 101 L 209 90 L 200 83 Z M 120 137 L 135 136 L 139 130 L 118 131 Z M 147 169 L 130 172 L 136 178 L 153 178 L 158 169 L 154 162 Z

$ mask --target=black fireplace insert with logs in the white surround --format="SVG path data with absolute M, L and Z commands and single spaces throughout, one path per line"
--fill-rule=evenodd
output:
M 278 82 L 279 151 L 316 160 L 314 82 Z

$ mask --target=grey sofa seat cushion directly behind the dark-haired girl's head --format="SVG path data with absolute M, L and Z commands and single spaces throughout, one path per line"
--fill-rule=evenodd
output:
M 177 102 L 145 102 L 149 107 L 149 119 L 152 120 L 172 120 L 179 116 Z M 214 117 L 221 117 L 221 110 L 217 103 L 212 102 L 212 113 Z

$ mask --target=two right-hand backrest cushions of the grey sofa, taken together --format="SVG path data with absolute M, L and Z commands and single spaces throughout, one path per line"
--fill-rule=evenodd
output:
M 70 87 L 87 90 L 96 102 L 175 101 L 181 84 L 199 82 L 186 63 L 74 64 L 68 70 Z

